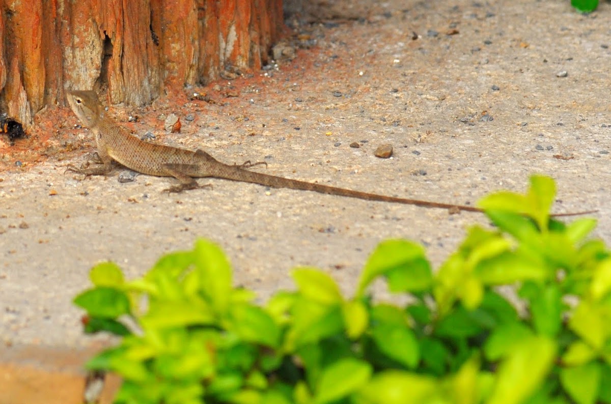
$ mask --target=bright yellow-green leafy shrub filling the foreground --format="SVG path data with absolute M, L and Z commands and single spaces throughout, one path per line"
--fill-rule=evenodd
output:
M 585 240 L 595 220 L 549 217 L 554 194 L 534 176 L 484 198 L 496 229 L 470 228 L 436 273 L 420 245 L 382 242 L 351 298 L 301 268 L 255 305 L 205 240 L 133 281 L 97 265 L 75 303 L 121 339 L 87 367 L 123 378 L 117 403 L 611 403 L 611 258 Z M 371 297 L 378 278 L 411 303 Z

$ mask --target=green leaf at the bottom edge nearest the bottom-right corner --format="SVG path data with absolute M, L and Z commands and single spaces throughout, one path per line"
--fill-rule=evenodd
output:
M 601 383 L 601 365 L 587 363 L 560 369 L 560 382 L 577 404 L 593 404 Z

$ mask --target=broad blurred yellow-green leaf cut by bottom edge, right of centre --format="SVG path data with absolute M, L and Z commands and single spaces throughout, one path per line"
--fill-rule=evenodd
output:
M 360 391 L 365 402 L 375 404 L 439 403 L 439 384 L 430 376 L 385 370 L 371 378 Z M 436 400 L 437 399 L 437 400 Z

